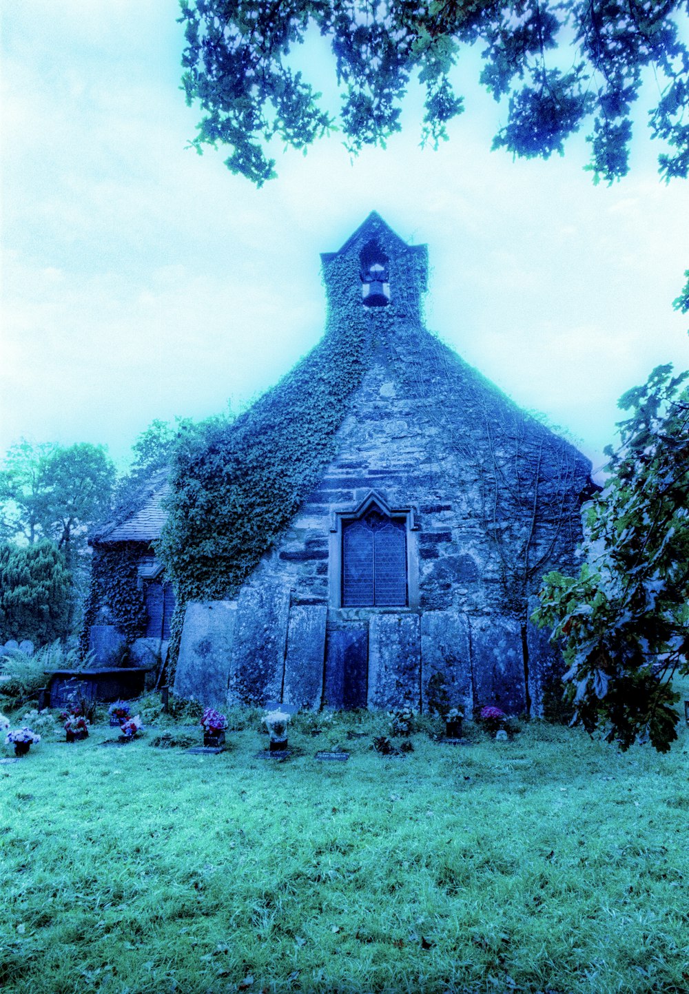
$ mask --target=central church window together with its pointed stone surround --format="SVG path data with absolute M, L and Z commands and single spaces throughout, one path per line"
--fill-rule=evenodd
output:
M 414 510 L 393 510 L 373 491 L 351 512 L 334 515 L 331 606 L 417 606 Z

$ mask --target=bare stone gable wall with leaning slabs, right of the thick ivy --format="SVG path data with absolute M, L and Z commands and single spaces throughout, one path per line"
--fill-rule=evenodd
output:
M 439 695 L 469 714 L 540 713 L 557 663 L 528 598 L 548 570 L 574 566 L 590 464 L 423 334 L 411 326 L 381 342 L 336 459 L 235 601 L 231 703 L 428 710 Z M 422 346 L 432 376 L 415 384 L 407 359 Z M 416 606 L 338 606 L 334 522 L 372 491 L 414 511 Z M 215 701 L 186 632 L 178 688 L 189 693 L 193 671 L 197 696 Z

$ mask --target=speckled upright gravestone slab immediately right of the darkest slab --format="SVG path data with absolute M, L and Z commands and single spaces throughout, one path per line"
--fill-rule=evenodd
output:
M 421 708 L 418 614 L 375 614 L 369 624 L 369 708 Z

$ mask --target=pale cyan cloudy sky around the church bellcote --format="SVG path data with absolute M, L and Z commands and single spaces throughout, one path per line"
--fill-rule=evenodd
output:
M 466 112 L 438 152 L 418 147 L 413 95 L 387 150 L 278 150 L 256 190 L 222 149 L 185 149 L 200 114 L 178 88 L 176 16 L 172 0 L 4 5 L 0 453 L 86 440 L 123 465 L 153 418 L 241 410 L 317 342 L 318 253 L 373 209 L 429 246 L 431 330 L 595 467 L 619 395 L 659 363 L 689 366 L 671 308 L 689 183 L 658 181 L 643 123 L 612 187 L 584 172 L 580 137 L 513 163 L 489 151 L 504 110 L 469 53 Z M 322 76 L 317 44 L 299 58 Z

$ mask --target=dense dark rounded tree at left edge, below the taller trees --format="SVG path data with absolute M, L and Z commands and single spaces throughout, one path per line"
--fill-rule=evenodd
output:
M 66 636 L 71 590 L 65 556 L 55 543 L 0 545 L 0 638 L 45 645 Z

